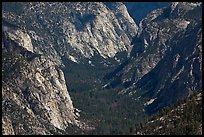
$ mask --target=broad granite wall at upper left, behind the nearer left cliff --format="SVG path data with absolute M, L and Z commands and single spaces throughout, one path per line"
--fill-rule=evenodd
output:
M 137 32 L 122 3 L 18 3 L 18 12 L 9 9 L 12 4 L 3 3 L 3 18 L 30 30 L 37 43 L 34 51 L 44 52 L 58 63 L 60 57 L 78 63 L 94 55 L 113 58 L 118 52 L 129 53 Z

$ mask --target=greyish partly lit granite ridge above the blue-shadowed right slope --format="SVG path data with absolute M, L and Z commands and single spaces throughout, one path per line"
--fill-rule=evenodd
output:
M 185 10 L 181 10 L 182 5 Z M 181 8 L 182 14 L 174 13 L 176 6 Z M 170 42 L 179 41 L 176 35 L 178 33 L 184 35 L 188 26 L 195 25 L 199 19 L 195 19 L 191 14 L 195 12 L 199 18 L 200 8 L 199 3 L 197 6 L 191 3 L 172 3 L 148 14 L 140 23 L 138 35 L 132 42 L 134 44 L 131 51 L 132 59 L 128 61 L 131 63 L 119 69 L 113 76 L 120 77 L 122 83 L 133 84 L 140 80 L 164 57 L 171 46 Z

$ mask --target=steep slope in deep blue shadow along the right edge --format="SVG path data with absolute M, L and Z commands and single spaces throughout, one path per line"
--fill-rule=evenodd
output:
M 156 98 L 148 112 L 202 89 L 202 22 L 176 38 L 179 42 L 173 41 L 164 58 L 138 82 L 147 89 L 145 96 Z

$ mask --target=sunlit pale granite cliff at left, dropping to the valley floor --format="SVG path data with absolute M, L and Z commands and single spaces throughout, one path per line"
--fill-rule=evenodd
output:
M 54 134 L 77 125 L 60 67 L 31 52 L 30 37 L 20 28 L 3 28 L 2 133 Z

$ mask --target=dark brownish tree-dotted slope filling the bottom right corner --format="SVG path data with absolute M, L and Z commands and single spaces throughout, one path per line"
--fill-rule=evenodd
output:
M 202 135 L 202 92 L 163 109 L 162 112 L 138 124 L 131 134 Z

